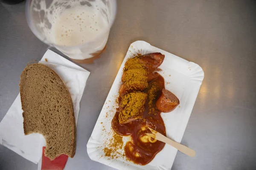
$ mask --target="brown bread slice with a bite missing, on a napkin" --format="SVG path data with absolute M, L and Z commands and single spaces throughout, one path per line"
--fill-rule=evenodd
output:
M 73 158 L 76 124 L 73 103 L 64 82 L 43 64 L 28 65 L 20 76 L 20 99 L 25 135 L 41 133 L 46 140 L 45 156 L 61 154 Z

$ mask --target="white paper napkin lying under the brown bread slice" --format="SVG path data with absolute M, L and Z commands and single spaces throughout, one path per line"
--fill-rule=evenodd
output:
M 79 103 L 90 72 L 51 50 L 46 51 L 40 63 L 52 68 L 64 81 L 73 101 L 77 122 Z M 20 94 L 18 94 L 6 116 L 0 122 L 0 144 L 37 164 L 41 159 L 42 146 L 45 144 L 45 140 L 38 133 L 24 135 L 22 113 Z

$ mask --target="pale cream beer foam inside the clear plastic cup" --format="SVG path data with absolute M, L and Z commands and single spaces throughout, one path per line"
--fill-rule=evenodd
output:
M 73 46 L 95 40 L 108 27 L 97 11 L 80 6 L 63 11 L 52 25 L 54 42 Z

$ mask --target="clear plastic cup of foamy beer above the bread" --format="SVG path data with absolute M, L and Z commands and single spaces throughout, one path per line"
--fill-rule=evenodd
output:
M 115 16 L 116 0 L 26 1 L 35 36 L 77 62 L 102 54 Z

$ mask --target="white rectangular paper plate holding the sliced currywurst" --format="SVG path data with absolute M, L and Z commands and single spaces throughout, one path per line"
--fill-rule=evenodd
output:
M 149 164 L 144 166 L 134 164 L 122 158 L 109 159 L 104 156 L 103 152 L 106 141 L 111 137 L 109 135 L 112 131 L 111 120 L 117 107 L 115 100 L 118 97 L 125 62 L 128 58 L 134 57 L 134 54 L 152 52 L 160 52 L 165 55 L 165 59 L 159 67 L 162 71 L 158 71 L 158 73 L 165 79 L 165 88 L 180 99 L 180 105 L 174 111 L 171 113 L 161 113 L 166 126 L 167 137 L 180 143 L 204 79 L 204 71 L 194 62 L 186 61 L 185 59 L 156 48 L 145 41 L 136 41 L 128 49 L 87 143 L 87 153 L 93 161 L 98 161 L 119 170 L 170 170 L 172 168 L 177 149 L 168 144 L 165 145 L 163 150 L 157 153 Z M 127 140 L 126 138 L 123 139 L 124 142 Z

